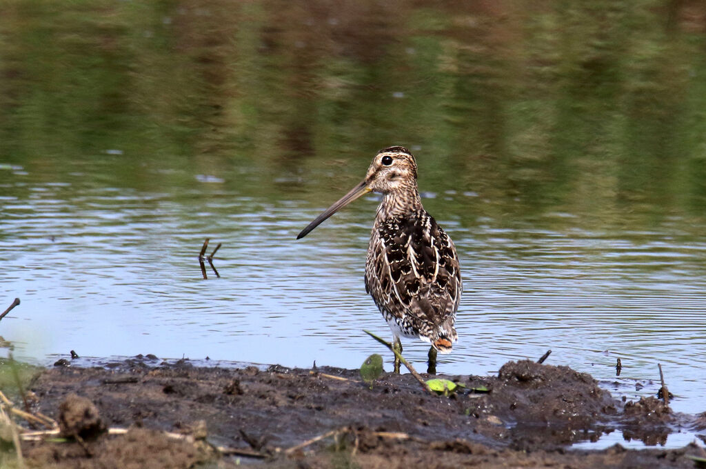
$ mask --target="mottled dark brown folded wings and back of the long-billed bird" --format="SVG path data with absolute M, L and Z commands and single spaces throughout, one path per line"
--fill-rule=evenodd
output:
M 424 336 L 445 332 L 455 340 L 454 314 L 462 291 L 458 258 L 453 242 L 426 212 L 376 227 L 366 290 L 383 314 Z

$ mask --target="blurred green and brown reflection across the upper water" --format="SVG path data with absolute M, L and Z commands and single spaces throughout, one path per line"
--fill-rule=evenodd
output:
M 0 160 L 37 183 L 181 195 L 212 174 L 323 206 L 403 144 L 423 190 L 477 194 L 427 203 L 466 227 L 702 223 L 705 18 L 666 0 L 8 0 Z

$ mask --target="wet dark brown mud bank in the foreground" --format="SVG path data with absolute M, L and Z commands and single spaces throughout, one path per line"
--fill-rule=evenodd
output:
M 146 357 L 54 367 L 32 383 L 35 410 L 62 422 L 63 434 L 86 438 L 25 441 L 23 453 L 30 467 L 52 468 L 693 468 L 686 455 L 700 455 L 695 445 L 571 449 L 610 432 L 659 443 L 675 425 L 704 419 L 674 415 L 655 398 L 623 403 L 569 367 L 508 362 L 497 377 L 443 377 L 467 388 L 436 396 L 409 374 L 383 374 L 369 386 L 357 370 L 155 365 Z

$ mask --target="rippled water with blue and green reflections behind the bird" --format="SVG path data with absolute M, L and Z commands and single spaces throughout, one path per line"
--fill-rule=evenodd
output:
M 644 3 L 11 2 L 2 336 L 44 364 L 358 367 L 383 352 L 363 329 L 388 336 L 363 285 L 376 198 L 294 238 L 403 144 L 464 275 L 441 372 L 551 349 L 639 398 L 661 363 L 674 410 L 705 411 L 706 38 L 698 6 Z

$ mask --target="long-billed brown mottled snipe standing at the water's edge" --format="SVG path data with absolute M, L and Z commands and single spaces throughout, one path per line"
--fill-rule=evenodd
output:
M 427 372 L 436 374 L 436 354 L 450 353 L 458 335 L 456 311 L 463 290 L 451 238 L 424 210 L 417 187 L 417 162 L 402 146 L 380 150 L 365 178 L 301 230 L 309 234 L 337 210 L 364 194 L 382 194 L 365 263 L 365 289 L 387 321 L 393 349 L 400 337 L 429 343 Z M 394 371 L 400 360 L 395 354 Z

